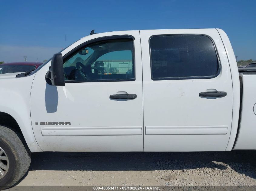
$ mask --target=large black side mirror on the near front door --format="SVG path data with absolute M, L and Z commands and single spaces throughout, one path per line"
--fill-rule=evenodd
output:
M 45 75 L 48 84 L 54 86 L 65 86 L 62 54 L 57 53 L 52 57 L 51 67 Z

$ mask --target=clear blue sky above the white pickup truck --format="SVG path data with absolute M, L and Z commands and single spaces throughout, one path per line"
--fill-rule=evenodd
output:
M 0 61 L 42 61 L 95 32 L 221 28 L 235 55 L 256 60 L 255 0 L 0 1 Z

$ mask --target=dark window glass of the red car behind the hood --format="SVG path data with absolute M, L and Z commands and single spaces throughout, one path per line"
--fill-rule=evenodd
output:
M 35 67 L 35 65 L 0 65 L 0 74 L 28 72 L 35 69 Z

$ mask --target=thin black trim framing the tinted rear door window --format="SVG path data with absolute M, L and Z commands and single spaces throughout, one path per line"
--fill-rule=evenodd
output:
M 159 37 L 159 36 L 163 37 L 163 36 L 174 36 L 174 35 L 201 35 L 201 36 L 208 37 L 211 40 L 211 42 L 213 43 L 213 46 L 214 46 L 214 50 L 215 50 L 216 57 L 217 57 L 217 62 L 218 62 L 218 71 L 214 75 L 210 75 L 210 76 L 184 76 L 184 77 L 153 78 L 150 40 L 151 40 L 152 37 Z M 221 62 L 220 62 L 218 50 L 216 48 L 216 45 L 215 45 L 213 39 L 210 36 L 206 35 L 206 34 L 192 34 L 191 33 L 191 34 L 157 34 L 157 35 L 152 35 L 148 39 L 148 46 L 149 46 L 151 80 L 153 80 L 153 81 L 159 81 L 159 80 L 187 80 L 187 79 L 211 79 L 211 78 L 216 78 L 221 72 Z

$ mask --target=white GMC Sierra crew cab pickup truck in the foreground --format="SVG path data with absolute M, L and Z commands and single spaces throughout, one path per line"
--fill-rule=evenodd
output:
M 223 30 L 91 34 L 0 75 L 0 185 L 31 152 L 256 149 L 256 71 Z

